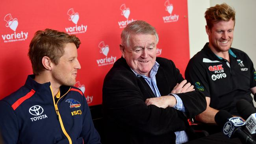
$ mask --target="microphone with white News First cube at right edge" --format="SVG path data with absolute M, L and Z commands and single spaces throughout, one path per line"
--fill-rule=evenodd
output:
M 243 119 L 246 119 L 246 128 L 250 134 L 256 133 L 256 111 L 247 100 L 239 100 L 236 103 L 237 111 Z

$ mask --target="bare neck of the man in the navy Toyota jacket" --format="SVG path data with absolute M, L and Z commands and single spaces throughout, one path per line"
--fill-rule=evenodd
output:
M 43 84 L 43 83 L 48 83 L 50 81 L 51 83 L 51 88 L 52 88 L 52 92 L 53 92 L 53 95 L 56 96 L 56 94 L 58 93 L 59 91 L 59 87 L 61 85 L 57 85 L 56 83 L 54 83 L 54 81 L 52 80 L 52 78 L 50 78 L 49 76 L 47 76 L 47 74 L 45 73 L 42 73 L 42 74 L 39 74 L 38 76 L 35 76 L 35 79 L 34 79 L 37 83 L 40 83 L 40 84 Z

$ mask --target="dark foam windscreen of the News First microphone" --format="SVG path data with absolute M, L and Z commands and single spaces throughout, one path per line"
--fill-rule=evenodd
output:
M 251 114 L 256 113 L 255 108 L 252 106 L 252 104 L 244 99 L 237 101 L 236 109 L 244 120 L 246 120 Z

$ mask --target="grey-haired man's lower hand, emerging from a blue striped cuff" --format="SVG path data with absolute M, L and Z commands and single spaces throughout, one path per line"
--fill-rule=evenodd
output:
M 156 105 L 157 107 L 173 107 L 177 102 L 174 96 L 160 96 L 157 98 L 148 98 L 145 103 L 148 105 Z

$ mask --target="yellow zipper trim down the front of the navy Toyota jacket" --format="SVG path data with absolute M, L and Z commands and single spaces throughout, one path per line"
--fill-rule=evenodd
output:
M 71 88 L 71 87 L 70 87 L 70 88 Z M 69 88 L 69 90 L 70 90 L 70 88 Z M 59 102 L 59 100 L 60 100 L 61 98 L 63 98 L 63 96 L 65 96 L 67 93 L 64 94 L 63 96 L 61 96 L 61 97 L 59 98 L 59 100 L 57 101 L 57 103 L 55 104 L 54 94 L 53 94 L 53 91 L 52 91 L 52 87 L 51 87 L 51 86 L 50 86 L 50 89 L 51 89 L 51 92 L 52 92 L 52 99 L 53 99 L 55 111 L 56 111 L 56 113 L 57 113 L 57 119 L 59 120 L 59 123 L 60 123 L 60 126 L 61 126 L 61 130 L 62 130 L 62 132 L 64 133 L 64 135 L 67 137 L 67 139 L 69 140 L 69 144 L 72 144 L 72 140 L 71 140 L 69 134 L 67 133 L 67 131 L 66 131 L 64 125 L 63 125 L 61 116 L 60 116 L 60 114 L 59 114 L 58 105 L 57 105 L 58 102 Z M 67 92 L 69 92 L 69 90 L 68 90 Z

